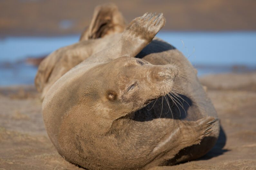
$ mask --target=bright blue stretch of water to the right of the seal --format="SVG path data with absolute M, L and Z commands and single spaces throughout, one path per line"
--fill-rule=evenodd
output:
M 193 64 L 256 65 L 256 32 L 160 32 Z

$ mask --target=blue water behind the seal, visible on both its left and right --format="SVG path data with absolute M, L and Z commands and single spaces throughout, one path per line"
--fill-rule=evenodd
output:
M 233 65 L 242 65 L 242 71 L 256 70 L 256 32 L 159 32 L 157 36 L 182 51 L 198 68 L 198 75 L 232 72 Z M 27 57 L 47 55 L 78 40 L 79 35 L 0 39 L 0 86 L 32 84 L 37 68 L 24 62 Z

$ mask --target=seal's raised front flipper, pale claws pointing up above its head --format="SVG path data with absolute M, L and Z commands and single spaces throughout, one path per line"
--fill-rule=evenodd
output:
M 122 56 L 135 57 L 164 25 L 162 13 L 145 13 L 128 24 L 117 43 L 92 55 L 86 62 L 109 62 Z

